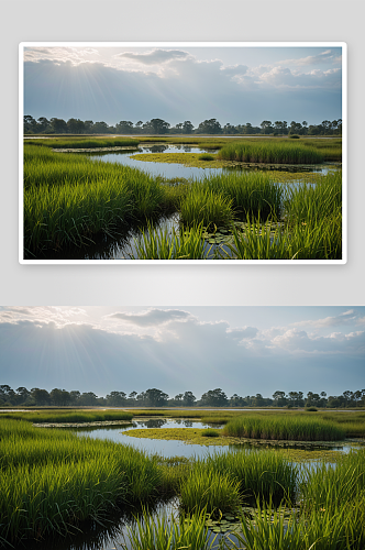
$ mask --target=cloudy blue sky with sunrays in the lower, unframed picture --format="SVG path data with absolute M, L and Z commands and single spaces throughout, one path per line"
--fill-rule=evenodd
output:
M 0 384 L 197 398 L 365 387 L 365 307 L 0 307 Z

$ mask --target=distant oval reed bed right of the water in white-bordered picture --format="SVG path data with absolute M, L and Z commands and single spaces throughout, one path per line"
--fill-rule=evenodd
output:
M 289 142 L 233 142 L 224 145 L 218 158 L 241 163 L 320 164 L 324 156 L 314 147 Z

